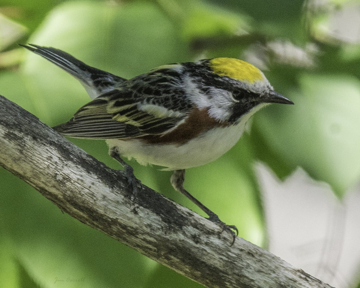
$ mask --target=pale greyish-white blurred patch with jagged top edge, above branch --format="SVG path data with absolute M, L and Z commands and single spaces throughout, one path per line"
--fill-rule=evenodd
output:
M 264 199 L 269 251 L 337 288 L 359 275 L 360 186 L 340 200 L 329 185 L 297 168 L 284 181 L 256 165 Z

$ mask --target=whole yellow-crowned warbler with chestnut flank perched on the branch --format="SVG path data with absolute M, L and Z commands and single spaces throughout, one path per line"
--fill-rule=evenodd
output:
M 260 108 L 269 103 L 294 104 L 276 93 L 258 68 L 233 58 L 203 59 L 163 65 L 127 80 L 59 49 L 21 46 L 76 77 L 93 99 L 54 130 L 74 138 L 106 139 L 109 154 L 124 166 L 134 189 L 137 179 L 121 157 L 174 171 L 174 189 L 222 231 L 228 230 L 234 243 L 238 229 L 222 222 L 183 183 L 185 169 L 214 161 L 233 147 Z

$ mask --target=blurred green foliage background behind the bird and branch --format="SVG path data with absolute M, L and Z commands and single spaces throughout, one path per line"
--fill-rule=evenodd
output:
M 2 0 L 0 94 L 49 126 L 89 102 L 77 80 L 17 43 L 59 48 L 125 78 L 202 58 L 251 62 L 296 105 L 258 112 L 233 149 L 187 170 L 185 188 L 266 248 L 256 160 L 281 179 L 300 166 L 340 199 L 360 180 L 360 17 L 347 14 L 358 8 L 345 0 Z M 104 141 L 70 140 L 121 168 Z M 130 163 L 144 184 L 203 215 L 171 188 L 171 172 Z M 0 177 L 0 287 L 201 287 L 63 214 L 2 168 Z

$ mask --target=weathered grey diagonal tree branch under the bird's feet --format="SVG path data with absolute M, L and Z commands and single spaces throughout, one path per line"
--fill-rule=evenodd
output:
M 60 209 L 207 287 L 330 288 L 86 154 L 0 96 L 0 165 Z

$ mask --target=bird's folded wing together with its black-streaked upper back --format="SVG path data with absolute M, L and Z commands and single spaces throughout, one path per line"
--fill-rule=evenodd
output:
M 54 129 L 66 136 L 91 139 L 164 134 L 182 123 L 191 108 L 181 83 L 168 85 L 168 81 L 180 81 L 174 75 L 164 78 L 163 73 L 160 77 L 150 72 L 135 77 L 84 105 L 70 121 Z M 180 105 L 178 98 L 183 101 Z

